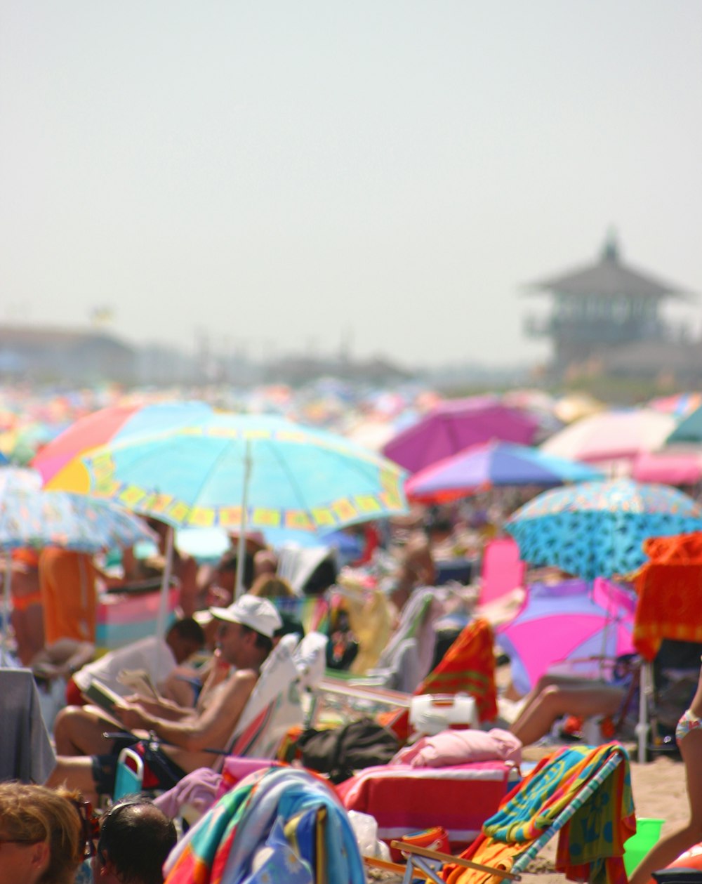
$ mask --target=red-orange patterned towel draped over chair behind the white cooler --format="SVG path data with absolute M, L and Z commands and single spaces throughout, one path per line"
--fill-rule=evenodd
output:
M 491 721 L 497 715 L 495 689 L 495 652 L 492 627 L 486 620 L 469 623 L 446 651 L 444 658 L 416 689 L 415 694 L 448 694 L 464 691 L 475 698 L 477 716 Z M 401 741 L 409 735 L 409 711 L 393 713 L 392 720 L 383 720 Z

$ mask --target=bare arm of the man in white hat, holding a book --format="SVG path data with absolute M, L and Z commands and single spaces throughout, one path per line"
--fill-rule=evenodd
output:
M 256 673 L 250 669 L 234 673 L 231 682 L 218 692 L 202 713 L 191 713 L 179 721 L 150 714 L 141 703 L 120 705 L 115 714 L 126 728 L 153 731 L 165 743 L 173 743 L 186 751 L 224 749 L 256 680 Z

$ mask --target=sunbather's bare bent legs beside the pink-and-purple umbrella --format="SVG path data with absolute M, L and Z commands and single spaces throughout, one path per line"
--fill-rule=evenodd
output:
M 531 705 L 510 726 L 524 746 L 536 743 L 562 715 L 614 715 L 622 703 L 624 692 L 612 685 L 595 684 L 572 687 L 551 685 L 542 690 Z

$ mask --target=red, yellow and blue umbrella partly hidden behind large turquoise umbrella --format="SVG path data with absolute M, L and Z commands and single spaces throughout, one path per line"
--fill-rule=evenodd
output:
M 32 467 L 48 488 L 88 491 L 88 476 L 80 454 L 131 435 L 172 430 L 210 417 L 206 402 L 172 401 L 114 405 L 80 417 L 34 456 Z M 64 475 L 62 470 L 66 469 Z

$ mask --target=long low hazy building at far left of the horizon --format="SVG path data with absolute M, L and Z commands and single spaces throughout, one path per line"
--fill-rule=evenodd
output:
M 133 347 L 103 331 L 0 325 L 0 377 L 38 383 L 131 384 Z

